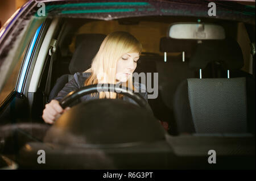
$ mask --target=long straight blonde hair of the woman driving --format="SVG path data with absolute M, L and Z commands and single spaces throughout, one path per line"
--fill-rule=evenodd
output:
M 97 83 L 115 84 L 115 74 L 117 61 L 123 54 L 138 52 L 141 54 L 142 44 L 130 33 L 124 31 L 116 31 L 105 37 L 96 56 L 93 58 L 90 70 L 92 74 L 86 79 L 84 85 L 93 85 Z M 129 78 L 126 86 L 134 90 L 133 79 Z M 96 95 L 96 94 L 94 94 Z M 115 99 L 115 92 L 100 92 L 100 99 Z

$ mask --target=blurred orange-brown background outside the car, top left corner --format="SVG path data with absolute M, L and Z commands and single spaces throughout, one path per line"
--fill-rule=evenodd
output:
M 0 27 L 28 0 L 1 0 L 0 1 Z

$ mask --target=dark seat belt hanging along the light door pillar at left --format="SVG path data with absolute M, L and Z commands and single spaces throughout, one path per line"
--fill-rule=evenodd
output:
M 56 52 L 56 42 L 57 40 L 52 39 L 50 48 L 49 48 L 49 56 L 51 56 L 51 60 L 49 63 L 49 70 L 48 70 L 48 75 L 47 75 L 47 81 L 46 81 L 46 89 L 44 92 L 46 92 L 47 100 L 46 102 L 48 103 L 48 98 L 49 98 L 49 92 L 51 91 L 51 79 L 52 79 L 52 65 L 53 65 L 53 54 Z

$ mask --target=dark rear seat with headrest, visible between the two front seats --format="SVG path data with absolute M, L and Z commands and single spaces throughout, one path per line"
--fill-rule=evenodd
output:
M 160 120 L 169 123 L 169 133 L 172 135 L 177 134 L 172 105 L 176 88 L 184 79 L 199 76 L 194 69 L 189 69 L 188 66 L 189 57 L 195 45 L 196 41 L 192 40 L 177 40 L 169 37 L 160 39 L 160 52 L 184 52 L 181 56 L 160 57 L 160 61 L 156 61 L 156 71 L 159 77 L 159 96 L 158 99 L 154 100 L 155 104 L 158 105 L 156 115 Z

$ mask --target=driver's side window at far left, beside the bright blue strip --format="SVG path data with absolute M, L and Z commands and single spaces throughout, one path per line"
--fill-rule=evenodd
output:
M 7 32 L 3 37 L 0 48 L 0 103 L 15 89 L 26 48 L 43 20 L 31 14 L 19 17 L 13 25 L 14 31 Z

